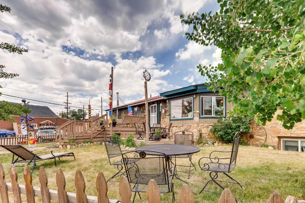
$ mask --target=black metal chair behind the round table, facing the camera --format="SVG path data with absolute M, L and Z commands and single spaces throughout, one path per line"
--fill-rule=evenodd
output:
M 178 131 L 178 132 L 175 132 L 174 137 L 175 137 L 175 145 L 189 145 L 189 146 L 193 146 L 194 145 L 194 134 L 193 134 L 193 132 L 190 132 L 190 131 Z M 178 168 L 177 166 L 189 167 L 188 172 L 186 172 L 186 171 L 178 171 L 178 172 L 188 173 L 188 178 L 190 178 L 190 173 L 194 169 L 196 170 L 195 165 L 192 163 L 192 154 L 175 156 L 175 163 L 176 163 L 176 158 L 188 158 L 189 159 L 189 161 L 190 161 L 190 165 L 189 166 L 177 165 L 176 164 L 176 170 Z M 193 169 L 191 170 L 191 168 L 193 168 Z

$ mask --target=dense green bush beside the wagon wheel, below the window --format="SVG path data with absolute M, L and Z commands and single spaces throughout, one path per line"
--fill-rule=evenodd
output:
M 249 133 L 249 121 L 253 121 L 249 116 L 228 116 L 226 118 L 219 117 L 218 123 L 214 124 L 210 129 L 215 137 L 220 138 L 224 142 L 233 142 L 233 137 L 236 132 Z

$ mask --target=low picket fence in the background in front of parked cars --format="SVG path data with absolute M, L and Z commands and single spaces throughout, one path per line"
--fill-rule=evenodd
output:
M 34 136 L 38 139 L 38 143 L 55 142 L 55 133 L 44 134 L 41 136 Z M 0 138 L 0 145 L 24 145 L 27 144 L 26 139 L 28 137 L 12 137 L 12 138 Z

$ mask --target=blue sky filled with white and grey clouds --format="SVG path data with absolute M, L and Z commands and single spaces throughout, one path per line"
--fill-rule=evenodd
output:
M 0 64 L 19 73 L 0 79 L 3 94 L 103 109 L 108 105 L 111 66 L 120 104 L 144 98 L 142 72 L 152 79 L 148 93 L 205 82 L 196 65 L 217 64 L 221 50 L 185 38 L 180 14 L 216 12 L 215 0 L 2 0 L 11 13 L 0 13 L 0 41 L 28 49 L 23 55 L 0 50 Z M 14 90 L 15 89 L 15 90 Z M 19 90 L 19 91 L 18 91 Z M 30 93 L 29 93 L 30 92 Z M 116 98 L 116 96 L 114 96 Z M 1 96 L 0 100 L 21 99 Z M 30 101 L 30 100 L 29 100 Z M 48 105 L 54 112 L 63 107 Z M 93 111 L 98 113 L 98 110 Z

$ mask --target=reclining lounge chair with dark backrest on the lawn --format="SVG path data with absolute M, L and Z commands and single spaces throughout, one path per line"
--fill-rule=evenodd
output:
M 54 159 L 55 166 L 57 166 L 56 158 L 60 159 L 61 157 L 64 157 L 64 156 L 73 156 L 74 160 L 76 160 L 73 152 L 53 153 L 53 150 L 52 150 L 52 151 L 47 151 L 47 152 L 51 152 L 51 154 L 45 154 L 45 155 L 38 156 L 38 154 L 43 154 L 46 152 L 40 152 L 40 153 L 34 154 L 32 151 L 24 148 L 22 145 L 0 145 L 0 146 L 3 147 L 4 149 L 6 149 L 7 151 L 13 153 L 12 164 L 27 163 L 25 166 L 28 166 L 30 163 L 33 163 L 31 173 L 33 173 L 34 167 L 36 166 L 36 162 L 38 162 L 38 161 Z M 15 156 L 17 156 L 17 158 L 14 160 Z M 15 166 L 15 167 L 24 167 L 24 166 Z

